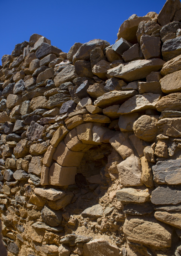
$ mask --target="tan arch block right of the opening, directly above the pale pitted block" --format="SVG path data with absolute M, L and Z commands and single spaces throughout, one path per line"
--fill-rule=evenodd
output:
M 128 138 L 126 138 L 126 135 L 123 135 L 123 133 L 119 133 L 112 137 L 109 140 L 109 143 L 121 155 L 123 159 L 130 157 L 131 154 L 134 154 Z

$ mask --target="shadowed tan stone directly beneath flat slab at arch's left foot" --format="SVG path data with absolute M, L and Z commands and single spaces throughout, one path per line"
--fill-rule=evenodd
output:
M 67 167 L 63 167 L 63 168 L 67 168 Z M 71 175 L 72 173 L 69 174 L 69 178 L 71 177 Z M 48 201 L 48 206 L 53 210 L 60 210 L 71 203 L 73 196 L 74 194 L 72 192 L 70 193 L 67 192 L 66 195 L 64 195 L 61 199 L 58 199 L 56 201 Z

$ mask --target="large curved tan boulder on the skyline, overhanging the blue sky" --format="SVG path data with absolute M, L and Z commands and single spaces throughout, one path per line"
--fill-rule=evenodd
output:
M 137 43 L 136 32 L 138 30 L 138 25 L 141 21 L 151 20 L 150 17 L 136 17 L 136 19 L 128 19 L 123 22 L 119 28 L 117 34 L 118 40 L 123 37 L 125 40 L 131 43 Z

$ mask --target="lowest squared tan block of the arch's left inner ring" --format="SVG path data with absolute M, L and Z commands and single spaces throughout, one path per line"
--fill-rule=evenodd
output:
M 75 152 L 74 152 L 75 153 Z M 72 159 L 71 159 L 72 160 Z M 49 171 L 49 183 L 55 186 L 67 186 L 75 183 L 77 167 L 65 167 L 53 163 Z

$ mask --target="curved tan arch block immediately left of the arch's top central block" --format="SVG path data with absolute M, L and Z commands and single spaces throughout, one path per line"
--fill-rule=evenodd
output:
M 92 145 L 84 144 L 81 140 L 79 140 L 76 128 L 74 128 L 67 134 L 66 138 L 64 139 L 64 142 L 67 148 L 72 151 L 87 152 L 92 147 Z

